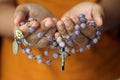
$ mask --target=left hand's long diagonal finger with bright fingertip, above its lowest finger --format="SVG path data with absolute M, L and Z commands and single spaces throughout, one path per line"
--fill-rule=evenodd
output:
M 46 26 L 45 26 L 46 25 Z M 36 44 L 42 37 L 45 36 L 45 34 L 49 31 L 49 29 L 54 28 L 53 26 L 55 23 L 53 20 L 46 18 L 41 22 L 41 26 L 37 28 L 37 30 L 26 37 L 27 41 L 29 43 L 32 43 L 33 45 Z

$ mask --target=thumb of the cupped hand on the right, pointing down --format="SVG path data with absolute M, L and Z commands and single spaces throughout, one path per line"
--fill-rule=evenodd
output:
M 92 9 L 92 16 L 97 26 L 103 25 L 103 15 L 104 15 L 104 12 L 103 12 L 102 7 L 95 4 Z

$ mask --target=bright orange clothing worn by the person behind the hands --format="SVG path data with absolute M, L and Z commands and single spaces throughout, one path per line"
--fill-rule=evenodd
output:
M 81 1 L 19 0 L 18 3 L 42 4 L 60 18 L 62 14 Z M 92 49 L 67 57 L 64 72 L 60 68 L 60 59 L 56 59 L 48 66 L 29 60 L 21 53 L 21 50 L 18 55 L 13 55 L 12 42 L 10 38 L 3 38 L 1 80 L 114 80 L 120 76 L 120 42 L 116 36 L 113 39 L 110 35 L 104 34 L 100 42 Z M 41 53 L 43 49 L 34 51 Z

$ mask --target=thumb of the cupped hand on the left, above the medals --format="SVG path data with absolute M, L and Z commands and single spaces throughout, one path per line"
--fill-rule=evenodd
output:
M 16 8 L 14 13 L 14 24 L 18 25 L 21 21 L 25 20 L 25 18 L 28 16 L 28 9 L 27 7 L 20 5 Z

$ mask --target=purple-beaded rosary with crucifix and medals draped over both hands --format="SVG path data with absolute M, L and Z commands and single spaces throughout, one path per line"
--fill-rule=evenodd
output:
M 80 22 L 81 24 L 75 25 L 75 30 L 74 30 L 74 34 L 73 35 L 69 35 L 66 38 L 62 38 L 62 37 L 58 37 L 58 38 L 53 38 L 51 36 L 46 36 L 47 40 L 50 41 L 50 45 L 49 48 L 55 48 L 57 49 L 58 52 L 53 53 L 52 55 L 52 59 L 47 59 L 44 60 L 43 57 L 48 56 L 49 54 L 49 50 L 45 50 L 42 55 L 41 54 L 37 54 L 35 55 L 32 51 L 32 49 L 30 48 L 30 46 L 32 46 L 31 43 L 27 42 L 27 40 L 25 39 L 25 35 L 24 33 L 19 29 L 19 27 L 16 27 L 15 30 L 15 34 L 14 34 L 14 41 L 13 41 L 13 53 L 16 55 L 18 54 L 18 47 L 21 47 L 21 51 L 23 54 L 26 54 L 28 56 L 29 59 L 34 59 L 37 60 L 38 64 L 48 64 L 50 65 L 52 63 L 52 61 L 54 59 L 57 59 L 58 57 L 61 58 L 61 70 L 64 71 L 64 67 L 65 67 L 65 58 L 67 56 L 70 56 L 70 51 L 71 53 L 76 53 L 76 52 L 83 52 L 86 48 L 91 48 L 91 45 L 96 44 L 98 42 L 98 40 L 100 39 L 100 35 L 101 35 L 101 31 L 99 29 L 99 27 L 96 26 L 96 23 L 94 21 L 87 21 L 87 19 L 85 18 L 85 15 L 80 14 L 79 16 Z M 31 33 L 33 33 L 35 31 L 35 29 L 32 26 L 29 26 L 29 23 L 31 21 L 37 21 L 33 18 L 29 18 L 27 20 L 26 23 L 24 23 L 25 25 L 27 25 L 29 27 L 29 31 Z M 65 45 L 65 39 L 70 41 L 72 44 L 72 40 L 76 37 L 76 35 L 80 34 L 80 30 L 81 29 L 85 29 L 87 26 L 89 25 L 93 28 L 95 28 L 96 32 L 95 32 L 95 37 L 93 39 L 91 39 L 89 41 L 89 44 L 87 44 L 85 46 L 85 48 L 79 48 L 78 50 L 76 50 L 75 48 L 71 48 L 67 45 Z M 23 25 L 23 23 L 20 23 L 20 26 Z M 36 35 L 38 38 L 42 37 L 42 33 L 38 33 Z

